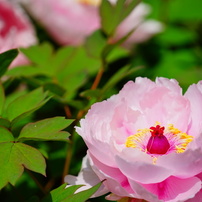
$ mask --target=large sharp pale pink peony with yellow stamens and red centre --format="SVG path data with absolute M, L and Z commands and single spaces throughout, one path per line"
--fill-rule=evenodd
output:
M 105 179 L 109 200 L 202 199 L 201 103 L 202 81 L 184 95 L 174 79 L 129 81 L 117 95 L 94 104 L 76 127 L 88 147 L 87 175 Z M 83 176 L 65 181 L 78 184 Z M 82 180 L 91 184 L 89 177 Z

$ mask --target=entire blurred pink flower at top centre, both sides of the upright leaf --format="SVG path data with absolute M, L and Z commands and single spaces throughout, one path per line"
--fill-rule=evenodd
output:
M 98 9 L 101 0 L 21 1 L 24 1 L 30 14 L 61 45 L 80 45 L 87 36 L 101 27 Z M 114 4 L 116 0 L 110 0 L 110 2 Z M 139 4 L 118 27 L 113 41 L 120 39 L 134 28 L 137 30 L 127 40 L 126 46 L 131 42 L 145 41 L 153 34 L 162 31 L 161 23 L 155 20 L 144 21 L 149 12 L 150 7 L 148 5 Z

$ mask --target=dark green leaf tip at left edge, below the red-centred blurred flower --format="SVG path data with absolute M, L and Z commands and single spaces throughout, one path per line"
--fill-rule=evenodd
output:
M 18 50 L 12 49 L 0 54 L 0 77 L 4 75 L 9 65 L 17 57 Z

